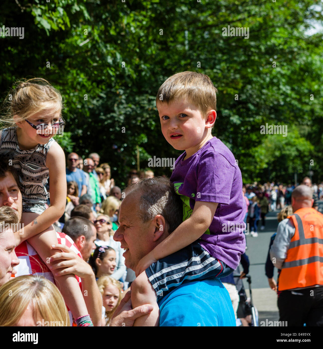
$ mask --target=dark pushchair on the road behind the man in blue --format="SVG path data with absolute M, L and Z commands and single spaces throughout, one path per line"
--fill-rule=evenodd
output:
M 251 321 L 249 322 L 249 326 L 258 327 L 258 311 L 257 308 L 252 303 L 252 292 L 251 292 L 251 276 L 246 275 L 245 280 L 247 280 L 249 284 L 249 292 L 250 298 L 247 298 L 247 294 L 245 293 L 242 279 L 240 279 L 240 274 L 233 275 L 236 288 L 238 290 L 238 294 L 240 297 L 238 309 L 237 309 L 237 318 L 246 318 L 248 315 L 251 315 Z M 239 325 L 237 325 L 239 326 Z

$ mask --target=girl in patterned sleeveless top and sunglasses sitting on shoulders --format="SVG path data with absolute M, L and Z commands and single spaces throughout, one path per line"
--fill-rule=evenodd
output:
M 44 262 L 49 263 L 58 243 L 52 224 L 63 214 L 66 204 L 66 173 L 63 149 L 53 139 L 64 125 L 61 118 L 62 97 L 45 79 L 17 82 L 5 99 L 0 132 L 0 156 L 19 174 L 22 194 L 22 223 L 15 232 L 16 246 L 28 239 Z M 50 176 L 51 206 L 45 210 Z M 93 326 L 82 292 L 73 275 L 54 279 L 78 326 Z

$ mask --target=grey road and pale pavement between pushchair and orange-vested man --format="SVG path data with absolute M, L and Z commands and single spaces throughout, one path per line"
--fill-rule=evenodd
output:
M 252 237 L 250 233 L 246 236 L 248 246 L 246 253 L 250 261 L 249 275 L 251 275 L 252 298 L 259 313 L 259 326 L 260 321 L 266 321 L 266 319 L 268 321 L 279 320 L 277 294 L 269 288 L 268 279 L 265 275 L 265 263 L 270 237 L 276 232 L 278 226 L 278 212 L 269 212 L 267 214 L 265 229 L 258 229 L 258 237 Z M 274 277 L 277 280 L 276 268 L 274 269 Z M 244 288 L 249 296 L 248 283 L 245 281 Z

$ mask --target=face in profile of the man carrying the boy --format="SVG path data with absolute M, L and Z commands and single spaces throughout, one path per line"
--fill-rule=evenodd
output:
M 151 252 L 155 247 L 152 235 L 149 232 L 155 230 L 153 222 L 142 223 L 136 216 L 140 193 L 132 192 L 126 196 L 120 206 L 120 227 L 115 232 L 113 239 L 121 243 L 127 250 L 123 256 L 125 265 L 135 270 L 142 257 Z

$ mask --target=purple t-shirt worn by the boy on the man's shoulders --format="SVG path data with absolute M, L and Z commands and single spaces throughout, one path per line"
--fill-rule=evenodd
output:
M 186 160 L 186 151 L 174 165 L 170 181 L 183 201 L 183 221 L 193 212 L 195 201 L 218 202 L 209 229 L 198 240 L 214 258 L 236 269 L 245 251 L 246 203 L 242 177 L 228 147 L 213 137 Z

